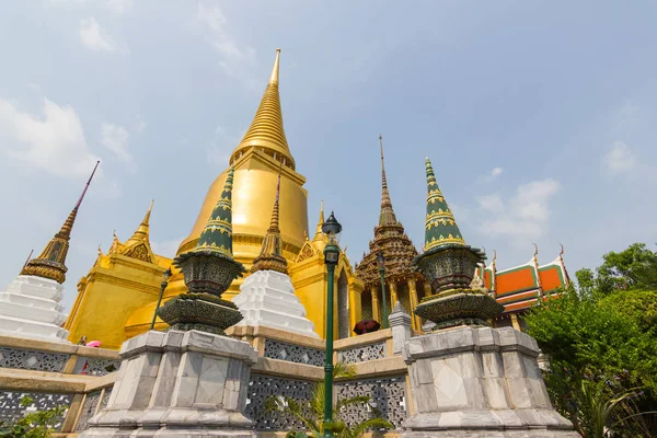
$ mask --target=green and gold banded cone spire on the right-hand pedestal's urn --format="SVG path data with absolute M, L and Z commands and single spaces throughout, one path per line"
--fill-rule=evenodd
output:
M 461 244 L 465 241 L 454 220 L 449 205 L 445 200 L 438 183 L 431 162 L 425 160 L 427 170 L 427 217 L 425 220 L 425 252 L 430 251 L 443 244 Z

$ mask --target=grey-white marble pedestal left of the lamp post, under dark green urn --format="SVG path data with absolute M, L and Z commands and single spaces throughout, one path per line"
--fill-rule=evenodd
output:
M 151 331 L 126 341 L 107 407 L 83 437 L 254 438 L 242 413 L 257 353 L 205 332 Z

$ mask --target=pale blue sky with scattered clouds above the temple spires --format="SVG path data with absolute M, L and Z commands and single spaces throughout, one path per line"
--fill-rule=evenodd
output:
M 67 291 L 151 198 L 173 255 L 249 127 L 281 48 L 285 128 L 353 263 L 372 238 L 383 135 L 419 247 L 424 158 L 498 267 L 572 274 L 657 242 L 657 4 L 648 1 L 33 0 L 0 5 L 0 288 L 76 203 Z M 269 206 L 267 206 L 269 208 Z

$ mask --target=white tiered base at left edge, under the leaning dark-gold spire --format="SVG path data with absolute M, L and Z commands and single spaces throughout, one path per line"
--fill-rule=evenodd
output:
M 62 291 L 55 280 L 19 275 L 0 292 L 0 335 L 68 344 Z

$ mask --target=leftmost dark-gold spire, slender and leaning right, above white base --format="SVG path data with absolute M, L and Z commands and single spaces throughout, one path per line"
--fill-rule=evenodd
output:
M 87 181 L 87 185 L 84 186 L 78 203 L 76 203 L 76 206 L 68 218 L 66 218 L 59 232 L 55 234 L 50 242 L 48 242 L 38 257 L 32 258 L 25 264 L 21 270 L 21 275 L 35 275 L 37 277 L 55 280 L 59 284 L 62 284 L 66 280 L 66 272 L 68 268 L 66 267 L 65 262 L 69 249 L 69 240 L 71 239 L 71 230 L 76 223 L 76 217 L 78 216 L 80 205 L 82 205 L 82 199 L 84 199 L 84 195 L 89 189 L 89 185 L 91 184 L 91 180 L 93 178 L 96 169 L 99 169 L 99 164 L 100 161 L 97 161 L 93 168 L 93 172 L 91 172 L 91 176 L 89 177 L 89 181 Z

